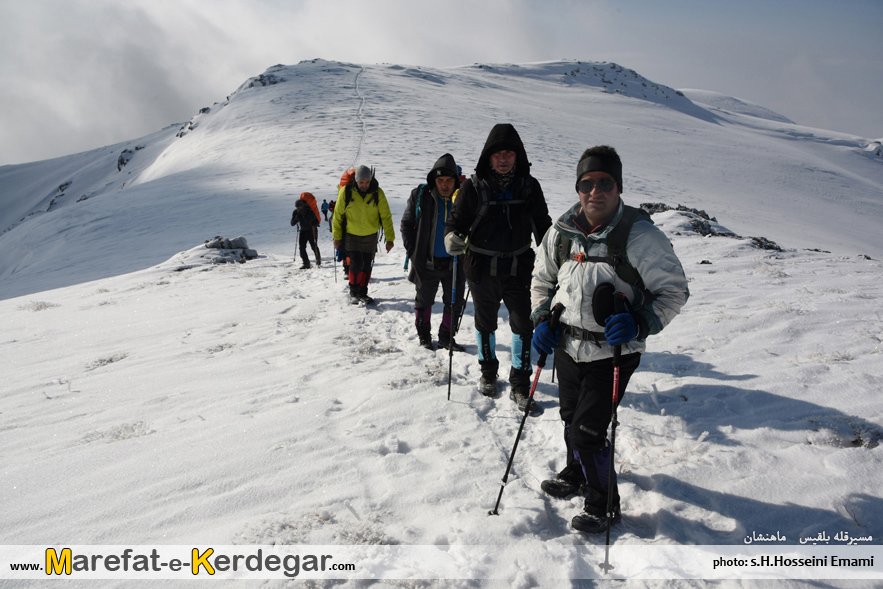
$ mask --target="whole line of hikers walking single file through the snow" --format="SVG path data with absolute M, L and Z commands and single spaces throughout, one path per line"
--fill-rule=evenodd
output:
M 530 166 L 515 128 L 498 124 L 471 177 L 463 179 L 454 157 L 444 154 L 426 183 L 411 191 L 400 228 L 408 278 L 416 287 L 415 327 L 419 344 L 433 349 L 432 306 L 440 285 L 444 307 L 438 344 L 463 351 L 454 336 L 468 283 L 481 369 L 478 388 L 496 397 L 495 333 L 505 304 L 512 331 L 509 397 L 525 413 L 539 410 L 530 386 L 531 348 L 541 355 L 557 351 L 566 458 L 564 468 L 541 488 L 556 498 L 584 496 L 583 511 L 571 525 L 599 533 L 621 519 L 607 438 L 614 405 L 638 368 L 646 338 L 659 333 L 687 302 L 687 278 L 650 216 L 620 198 L 622 161 L 615 149 L 599 145 L 580 156 L 577 200 L 554 224 Z M 331 209 L 335 255 L 345 262 L 351 302 L 370 304 L 378 233 L 383 231 L 387 252 L 395 241 L 392 214 L 370 168 L 357 167 L 341 184 Z M 298 219 L 314 216 L 307 224 L 318 226 L 318 212 L 307 214 L 309 204 L 298 204 Z M 307 267 L 308 243 L 320 261 L 314 239 L 302 224 Z

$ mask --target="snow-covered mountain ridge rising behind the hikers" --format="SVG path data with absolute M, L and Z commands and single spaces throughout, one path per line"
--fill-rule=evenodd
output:
M 145 268 L 215 235 L 287 248 L 296 195 L 334 198 L 356 162 L 377 167 L 398 214 L 437 155 L 453 153 L 469 172 L 500 121 L 519 129 L 555 210 L 571 198 L 579 153 L 608 143 L 623 154 L 629 202 L 713 210 L 785 247 L 883 254 L 883 157 L 869 140 L 708 110 L 617 64 L 316 59 L 274 66 L 154 135 L 0 168 L 0 296 Z M 160 220 L 162 239 L 136 245 Z M 108 260 L 92 243 L 95 223 L 137 239 Z

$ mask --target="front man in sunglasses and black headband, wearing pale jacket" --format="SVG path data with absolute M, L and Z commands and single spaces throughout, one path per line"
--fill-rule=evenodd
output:
M 689 292 L 668 238 L 649 215 L 623 204 L 622 162 L 612 147 L 583 153 L 576 191 L 579 202 L 543 239 L 531 283 L 533 346 L 551 353 L 560 345 L 555 367 L 567 452 L 564 469 L 541 487 L 559 498 L 585 492 L 585 511 L 571 525 L 597 533 L 607 526 L 608 485 L 613 485 L 610 523 L 621 518 L 615 472 L 608 481 L 614 346 L 622 346 L 619 402 L 641 361 L 644 340 L 678 314 Z M 613 311 L 614 292 L 625 295 L 626 312 Z M 544 318 L 556 303 L 565 310 L 552 333 Z M 595 317 L 607 319 L 598 323 Z

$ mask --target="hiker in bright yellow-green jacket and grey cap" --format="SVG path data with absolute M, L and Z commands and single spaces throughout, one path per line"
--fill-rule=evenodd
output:
M 367 166 L 356 168 L 355 176 L 337 193 L 339 206 L 332 217 L 335 252 L 346 250 L 349 267 L 350 302 L 372 304 L 368 281 L 377 252 L 377 232 L 383 228 L 386 251 L 393 248 L 395 229 L 386 195 Z

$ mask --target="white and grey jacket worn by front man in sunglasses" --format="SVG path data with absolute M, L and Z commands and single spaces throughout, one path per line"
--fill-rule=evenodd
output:
M 612 283 L 617 292 L 635 301 L 631 285 L 616 275 L 613 266 L 605 262 L 577 261 L 574 256 L 583 253 L 587 257 L 607 255 L 607 236 L 622 218 L 623 205 L 607 227 L 597 233 L 586 235 L 573 223 L 580 212 L 576 203 L 546 232 L 534 265 L 531 281 L 531 319 L 534 323 L 549 314 L 556 303 L 565 307 L 561 322 L 592 332 L 600 341 L 573 335 L 573 329 L 565 330 L 559 349 L 563 349 L 577 362 L 593 362 L 613 356 L 613 347 L 603 340 L 604 326 L 595 322 L 592 296 L 598 285 Z M 571 256 L 558 266 L 558 234 L 571 238 Z M 690 296 L 687 277 L 674 248 L 665 234 L 651 222 L 638 220 L 632 226 L 626 243 L 626 256 L 644 281 L 644 287 L 652 293 L 652 301 L 641 309 L 633 309 L 643 324 L 645 335 L 659 333 L 680 312 Z M 623 344 L 623 354 L 643 352 L 644 340 L 636 339 Z

